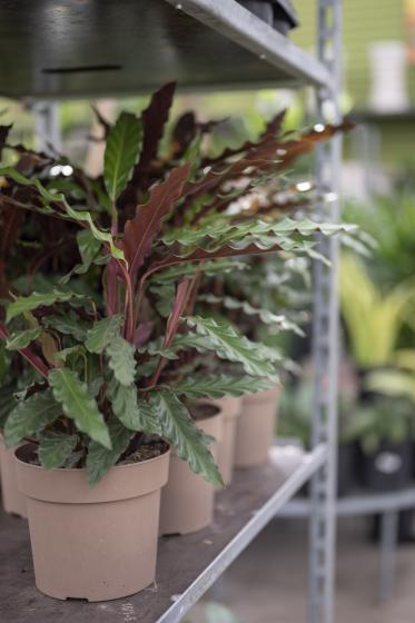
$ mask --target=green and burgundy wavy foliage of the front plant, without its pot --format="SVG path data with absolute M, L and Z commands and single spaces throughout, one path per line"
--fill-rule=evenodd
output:
M 122 112 L 105 125 L 102 178 L 73 167 L 63 185 L 39 168 L 0 169 L 3 226 L 21 210 L 67 224 L 79 255 L 55 287 L 27 296 L 9 290 L 0 338 L 38 377 L 16 396 L 6 442 L 30 439 L 45 468 L 86 467 L 91 484 L 117 463 L 162 452 L 164 442 L 196 473 L 221 482 L 188 402 L 270 387 L 279 357 L 229 323 L 195 314 L 199 277 L 234 269 L 237 256 L 315 255 L 312 234 L 340 229 L 227 210 L 337 128 L 281 142 L 278 119 L 257 144 L 209 160 L 199 141 L 207 128 L 176 126 L 171 154 L 161 158 L 171 95 L 167 86 L 140 118 Z M 101 277 L 98 300 L 77 287 L 91 275 Z M 188 377 L 206 353 L 236 366 L 237 376 Z

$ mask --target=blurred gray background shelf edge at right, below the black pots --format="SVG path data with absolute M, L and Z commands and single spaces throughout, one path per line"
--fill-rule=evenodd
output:
M 413 487 L 385 493 L 356 491 L 336 503 L 337 515 L 372 515 L 415 508 L 415 483 Z M 284 517 L 305 517 L 309 513 L 307 498 L 293 500 L 280 512 Z

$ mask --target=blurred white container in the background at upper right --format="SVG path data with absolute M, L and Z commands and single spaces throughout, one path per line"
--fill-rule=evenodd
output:
M 378 112 L 402 112 L 409 107 L 406 89 L 406 50 L 401 41 L 377 41 L 369 47 L 370 106 Z

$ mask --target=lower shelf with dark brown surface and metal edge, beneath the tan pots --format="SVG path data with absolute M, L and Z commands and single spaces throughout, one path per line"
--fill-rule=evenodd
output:
M 278 449 L 274 449 L 276 456 Z M 34 587 L 27 522 L 0 515 L 0 621 L 8 623 L 172 623 L 201 597 L 286 502 L 326 461 L 324 445 L 290 473 L 280 462 L 237 469 L 217 495 L 214 524 L 187 536 L 161 538 L 157 585 L 102 603 L 60 602 Z M 279 465 L 279 466 L 278 466 Z

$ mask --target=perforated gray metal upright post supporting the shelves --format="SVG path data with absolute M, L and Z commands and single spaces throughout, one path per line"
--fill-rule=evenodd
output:
M 332 85 L 317 93 L 318 123 L 339 120 L 340 0 L 318 0 L 318 56 L 332 75 Z M 318 217 L 339 217 L 338 182 L 342 139 L 318 146 L 316 177 Z M 319 250 L 329 259 L 314 266 L 313 446 L 327 445 L 327 461 L 312 479 L 309 623 L 334 622 L 336 483 L 337 483 L 337 377 L 338 377 L 338 239 L 319 237 Z

